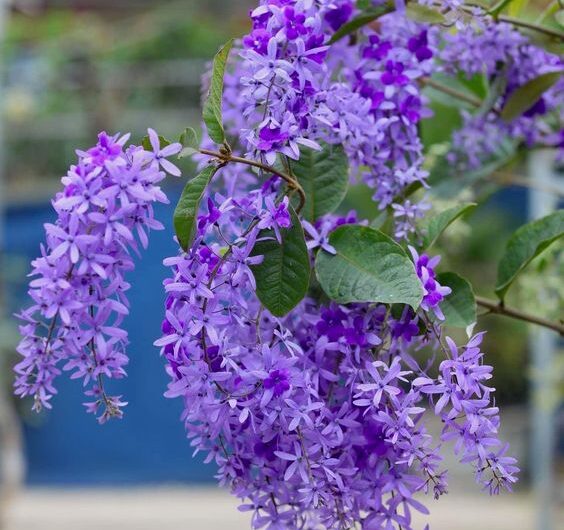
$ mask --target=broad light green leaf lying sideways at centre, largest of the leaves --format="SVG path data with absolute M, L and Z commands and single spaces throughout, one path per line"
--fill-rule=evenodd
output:
M 321 251 L 315 269 L 333 300 L 408 304 L 419 307 L 423 288 L 405 251 L 391 238 L 366 226 L 345 225 L 329 239 L 337 253 Z

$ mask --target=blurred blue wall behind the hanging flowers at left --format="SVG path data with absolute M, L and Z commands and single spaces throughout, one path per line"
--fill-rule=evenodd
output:
M 129 376 L 110 386 L 129 401 L 124 419 L 99 426 L 94 416 L 84 412 L 81 383 L 63 375 L 53 410 L 31 418 L 25 426 L 30 483 L 120 485 L 213 480 L 213 466 L 204 465 L 199 456 L 192 459 L 179 421 L 181 403 L 163 397 L 167 377 L 152 345 L 159 336 L 163 315 L 162 280 L 167 271 L 162 260 L 176 252 L 171 238 L 172 208 L 157 208 L 167 230 L 152 234 L 148 252 L 128 277 L 132 284 L 131 314 L 126 323 L 131 340 Z M 5 227 L 8 257 L 21 257 L 28 266 L 43 239 L 43 223 L 51 220 L 53 211 L 47 205 L 9 208 Z M 28 303 L 28 270 L 18 270 L 19 277 L 7 286 L 12 312 Z

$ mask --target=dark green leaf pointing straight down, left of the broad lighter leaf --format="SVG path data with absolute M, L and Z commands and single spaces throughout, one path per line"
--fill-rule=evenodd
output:
M 281 229 L 282 244 L 270 230 L 262 231 L 253 249 L 253 256 L 264 256 L 252 267 L 257 283 L 257 296 L 275 316 L 281 317 L 298 305 L 307 293 L 310 261 L 302 224 L 292 207 L 292 226 Z

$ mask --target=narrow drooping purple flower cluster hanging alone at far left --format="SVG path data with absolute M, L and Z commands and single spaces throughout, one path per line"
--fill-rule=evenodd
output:
M 20 315 L 23 336 L 16 365 L 16 394 L 32 396 L 34 409 L 51 408 L 54 381 L 61 370 L 82 379 L 89 412 L 100 421 L 121 417 L 121 396 L 106 394 L 104 378 L 125 376 L 128 314 L 125 280 L 133 269 L 131 251 L 148 244 L 148 232 L 160 230 L 152 204 L 168 202 L 158 183 L 160 165 L 178 173 L 164 157 L 179 144 L 160 149 L 152 130 L 154 152 L 125 148 L 129 135 L 101 133 L 62 179 L 53 201 L 55 224 L 45 225 L 46 244 L 33 261 L 29 295 L 33 305 Z

